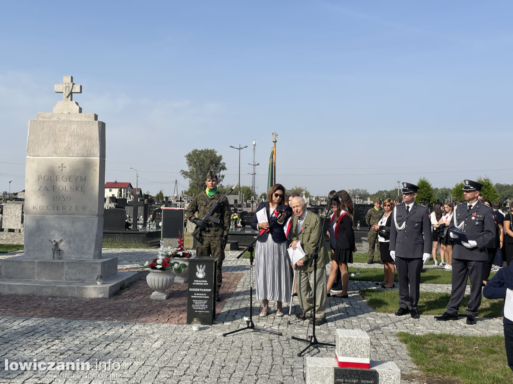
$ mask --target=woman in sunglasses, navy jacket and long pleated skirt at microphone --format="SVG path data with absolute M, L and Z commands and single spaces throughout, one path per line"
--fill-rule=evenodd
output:
M 283 316 L 282 302 L 290 297 L 292 279 L 287 255 L 287 237 L 283 227 L 291 216 L 284 204 L 285 188 L 275 184 L 269 189 L 266 202 L 255 211 L 251 228 L 260 237 L 255 247 L 255 282 L 257 300 L 262 300 L 260 317 L 269 313 L 269 300 L 276 301 L 276 316 Z

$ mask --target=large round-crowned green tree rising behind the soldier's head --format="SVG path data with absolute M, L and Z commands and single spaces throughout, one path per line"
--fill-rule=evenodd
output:
M 185 155 L 187 170 L 181 169 L 180 174 L 184 179 L 189 179 L 189 189 L 187 193 L 191 195 L 199 194 L 206 188 L 205 177 L 212 170 L 219 177 L 219 186 L 222 186 L 224 175 L 221 173 L 226 170 L 226 164 L 223 156 L 218 155 L 215 150 L 192 150 Z

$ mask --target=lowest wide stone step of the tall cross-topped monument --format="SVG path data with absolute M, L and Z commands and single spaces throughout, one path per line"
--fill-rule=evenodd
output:
M 101 285 L 96 282 L 0 279 L 0 294 L 110 297 L 119 291 L 122 285 L 128 285 L 137 279 L 139 279 L 137 272 L 117 272 L 114 276 L 105 279 Z

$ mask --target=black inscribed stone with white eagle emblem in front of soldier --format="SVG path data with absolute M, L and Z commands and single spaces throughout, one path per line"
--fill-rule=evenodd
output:
M 198 318 L 202 325 L 212 325 L 215 319 L 216 258 L 189 260 L 187 324 Z

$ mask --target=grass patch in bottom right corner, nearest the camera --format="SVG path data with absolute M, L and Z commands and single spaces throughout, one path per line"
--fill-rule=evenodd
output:
M 397 335 L 408 347 L 413 362 L 423 372 L 434 376 L 433 378 L 447 378 L 446 381 L 436 382 L 459 379 L 465 384 L 513 383 L 513 373 L 507 365 L 502 335 L 412 335 L 405 332 Z

